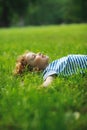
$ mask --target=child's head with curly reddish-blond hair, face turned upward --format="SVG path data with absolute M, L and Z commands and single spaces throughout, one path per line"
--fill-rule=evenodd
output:
M 49 57 L 41 53 L 27 52 L 19 56 L 14 73 L 21 74 L 24 70 L 40 71 L 46 68 Z

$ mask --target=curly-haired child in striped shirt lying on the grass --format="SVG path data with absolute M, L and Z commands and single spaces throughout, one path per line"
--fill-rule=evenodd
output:
M 67 55 L 49 63 L 49 57 L 42 53 L 27 52 L 17 59 L 14 74 L 22 74 L 25 70 L 43 71 L 43 87 L 47 87 L 56 76 L 70 76 L 84 73 L 87 70 L 87 55 Z

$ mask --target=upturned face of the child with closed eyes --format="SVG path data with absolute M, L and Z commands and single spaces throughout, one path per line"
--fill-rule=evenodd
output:
M 26 54 L 27 63 L 32 67 L 38 67 L 39 69 L 44 69 L 48 65 L 49 57 L 41 53 L 29 52 Z

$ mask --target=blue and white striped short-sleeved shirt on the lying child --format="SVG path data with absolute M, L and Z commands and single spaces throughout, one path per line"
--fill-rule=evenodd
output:
M 43 71 L 45 80 L 51 75 L 69 76 L 87 69 L 87 55 L 68 55 L 50 63 Z

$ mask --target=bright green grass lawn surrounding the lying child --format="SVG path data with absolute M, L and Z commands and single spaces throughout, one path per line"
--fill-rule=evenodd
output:
M 12 74 L 26 50 L 50 61 L 87 54 L 87 24 L 0 29 L 0 130 L 86 130 L 87 74 L 59 77 L 38 90 L 41 74 Z

